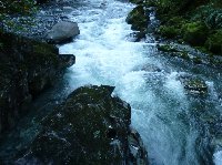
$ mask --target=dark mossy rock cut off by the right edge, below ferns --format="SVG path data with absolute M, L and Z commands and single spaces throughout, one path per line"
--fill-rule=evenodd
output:
M 222 30 L 208 38 L 205 48 L 213 53 L 222 54 Z

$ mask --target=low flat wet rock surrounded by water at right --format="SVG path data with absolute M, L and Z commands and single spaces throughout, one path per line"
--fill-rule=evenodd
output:
M 192 75 L 181 75 L 179 79 L 189 93 L 208 94 L 208 85 L 204 80 Z

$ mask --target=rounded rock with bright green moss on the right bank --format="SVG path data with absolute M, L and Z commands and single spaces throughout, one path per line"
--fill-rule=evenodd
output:
M 203 22 L 186 23 L 182 28 L 183 40 L 191 45 L 203 45 L 208 38 L 208 27 Z

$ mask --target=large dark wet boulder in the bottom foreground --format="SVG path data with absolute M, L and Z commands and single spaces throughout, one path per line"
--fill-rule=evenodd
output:
M 131 107 L 111 96 L 113 86 L 83 86 L 42 121 L 43 130 L 16 164 L 147 165 Z

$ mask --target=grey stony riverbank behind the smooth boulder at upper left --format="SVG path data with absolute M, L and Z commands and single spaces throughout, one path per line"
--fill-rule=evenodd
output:
M 38 0 L 37 11 L 27 16 L 9 14 L 2 18 L 0 28 L 3 31 L 12 32 L 34 40 L 49 40 L 49 32 L 58 22 L 71 20 L 68 14 L 79 6 L 87 2 L 71 0 Z M 61 25 L 60 25 L 61 27 Z M 61 32 L 61 31 L 60 31 Z

